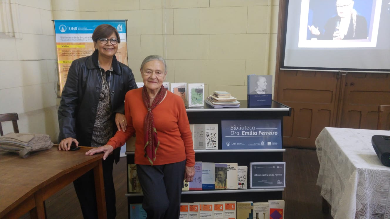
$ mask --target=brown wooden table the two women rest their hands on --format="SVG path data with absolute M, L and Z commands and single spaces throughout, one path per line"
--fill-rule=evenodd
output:
M 46 218 L 44 201 L 76 178 L 94 170 L 99 218 L 106 218 L 103 154 L 86 156 L 88 147 L 59 151 L 57 147 L 34 152 L 27 158 L 0 152 L 0 218 Z

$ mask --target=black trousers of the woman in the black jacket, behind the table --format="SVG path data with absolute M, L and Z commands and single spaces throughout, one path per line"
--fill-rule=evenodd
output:
M 112 178 L 114 155 L 109 155 L 103 162 L 103 181 L 106 196 L 107 218 L 117 215 L 115 207 L 115 188 Z M 84 219 L 97 219 L 96 191 L 93 170 L 88 171 L 73 182 Z

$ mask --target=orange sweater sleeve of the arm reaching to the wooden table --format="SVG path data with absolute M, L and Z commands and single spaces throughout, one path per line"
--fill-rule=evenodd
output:
M 126 131 L 123 132 L 118 130 L 115 135 L 107 142 L 107 145 L 111 145 L 114 149 L 124 145 L 124 143 L 126 143 L 126 141 L 135 133 L 135 129 L 133 127 L 133 119 L 130 115 L 131 94 L 129 93 L 130 92 L 126 93 L 124 104 L 124 113 L 127 120 Z

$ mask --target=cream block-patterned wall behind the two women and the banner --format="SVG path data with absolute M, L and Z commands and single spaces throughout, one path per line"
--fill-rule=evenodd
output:
M 0 113 L 21 132 L 57 138 L 55 38 L 51 19 L 128 19 L 129 67 L 167 59 L 168 82 L 205 83 L 206 94 L 246 99 L 248 74 L 275 74 L 278 0 L 12 0 L 23 39 L 0 39 Z M 164 5 L 165 2 L 165 5 Z M 44 124 L 44 125 L 42 125 Z

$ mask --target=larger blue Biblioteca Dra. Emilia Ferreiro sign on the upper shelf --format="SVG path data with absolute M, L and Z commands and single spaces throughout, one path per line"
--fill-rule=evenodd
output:
M 282 149 L 278 119 L 222 120 L 222 149 Z

